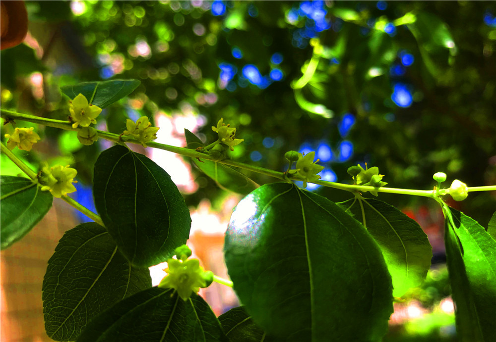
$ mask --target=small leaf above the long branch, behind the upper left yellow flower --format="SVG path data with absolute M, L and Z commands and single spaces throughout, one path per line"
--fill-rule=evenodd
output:
M 62 93 L 70 99 L 79 94 L 84 95 L 88 102 L 105 108 L 112 103 L 132 93 L 141 82 L 138 80 L 112 80 L 103 82 L 83 82 L 61 87 Z

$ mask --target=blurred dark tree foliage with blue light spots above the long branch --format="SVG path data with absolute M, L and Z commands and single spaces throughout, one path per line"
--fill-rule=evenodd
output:
M 287 150 L 316 150 L 326 180 L 351 182 L 346 169 L 367 162 L 390 187 L 429 189 L 436 171 L 469 186 L 496 182 L 493 2 L 26 6 L 27 45 L 1 52 L 3 108 L 66 119 L 59 87 L 138 79 L 128 99 L 100 115 L 111 132 L 121 133 L 128 117 L 195 114 L 200 137 L 211 142 L 210 126 L 222 117 L 245 139 L 231 157 L 274 170 L 285 170 Z M 81 181 L 90 183 L 99 147 L 67 146 L 66 133 L 57 129 L 46 128 L 45 136 L 58 141 Z M 194 172 L 200 188 L 186 196 L 188 204 L 223 192 Z M 250 176 L 259 184 L 273 181 Z M 332 189 L 315 191 L 347 198 Z M 463 210 L 486 225 L 494 194 L 470 197 Z M 400 206 L 412 200 L 394 198 Z

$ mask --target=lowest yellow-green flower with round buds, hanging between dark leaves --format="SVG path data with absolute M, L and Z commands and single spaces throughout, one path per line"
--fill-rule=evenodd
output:
M 168 268 L 164 271 L 167 276 L 162 279 L 159 288 L 175 289 L 183 300 L 187 300 L 191 293 L 198 293 L 200 288 L 206 288 L 213 282 L 212 271 L 205 271 L 198 259 L 188 259 L 191 249 L 186 244 L 176 248 L 178 259 L 167 260 Z

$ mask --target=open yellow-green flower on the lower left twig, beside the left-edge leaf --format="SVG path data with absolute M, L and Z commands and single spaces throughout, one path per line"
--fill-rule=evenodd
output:
M 76 169 L 72 169 L 67 166 L 56 165 L 54 167 L 49 167 L 48 165 L 43 167 L 41 175 L 39 176 L 40 184 L 42 185 L 42 191 L 50 191 L 54 197 L 62 197 L 62 195 L 67 195 L 76 191 L 76 188 L 72 183 L 77 183 L 74 181 L 76 177 Z

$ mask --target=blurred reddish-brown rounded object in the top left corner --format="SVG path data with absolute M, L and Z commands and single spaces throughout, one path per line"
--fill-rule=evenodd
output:
M 0 1 L 0 49 L 19 45 L 28 33 L 28 13 L 24 1 Z

